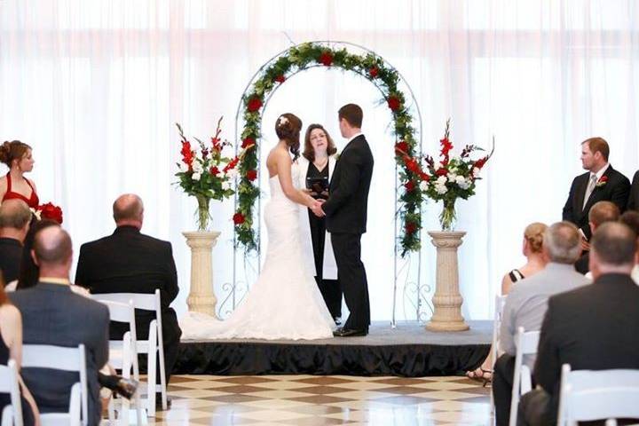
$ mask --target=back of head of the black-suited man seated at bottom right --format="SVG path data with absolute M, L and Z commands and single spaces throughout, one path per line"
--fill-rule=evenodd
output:
M 613 266 L 634 264 L 636 234 L 627 225 L 606 222 L 596 229 L 591 247 L 602 264 Z

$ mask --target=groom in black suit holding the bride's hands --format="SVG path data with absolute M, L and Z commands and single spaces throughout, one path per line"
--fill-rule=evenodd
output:
M 340 131 L 348 143 L 335 164 L 328 200 L 321 205 L 344 299 L 351 312 L 343 327 L 333 333 L 339 337 L 367 335 L 370 325 L 366 270 L 360 257 L 361 235 L 366 233 L 373 154 L 361 132 L 363 115 L 355 104 L 344 105 L 338 112 Z

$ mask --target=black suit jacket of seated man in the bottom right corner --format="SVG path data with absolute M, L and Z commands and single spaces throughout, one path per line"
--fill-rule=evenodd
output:
M 564 363 L 572 370 L 639 368 L 638 306 L 639 286 L 619 273 L 548 299 L 534 379 L 551 395 L 553 418 Z

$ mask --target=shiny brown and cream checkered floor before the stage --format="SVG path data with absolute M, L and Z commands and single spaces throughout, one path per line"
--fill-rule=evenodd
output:
M 465 377 L 172 376 L 153 425 L 487 425 L 490 388 Z

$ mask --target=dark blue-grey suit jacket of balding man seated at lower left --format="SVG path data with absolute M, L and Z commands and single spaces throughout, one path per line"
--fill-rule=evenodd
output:
M 99 424 L 98 370 L 108 360 L 109 312 L 104 304 L 76 295 L 69 286 L 39 282 L 35 287 L 10 293 L 22 314 L 25 344 L 77 346 L 84 344 L 89 388 L 90 425 Z M 23 368 L 22 378 L 43 413 L 66 412 L 70 388 L 79 381 L 75 373 L 43 368 Z

